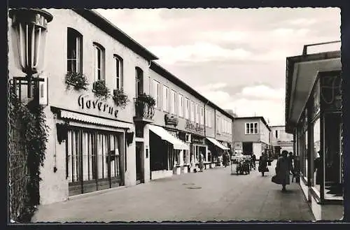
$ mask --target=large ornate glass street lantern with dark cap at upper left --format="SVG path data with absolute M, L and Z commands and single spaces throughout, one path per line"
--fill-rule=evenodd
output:
M 13 42 L 18 48 L 18 64 L 22 72 L 26 73 L 26 77 L 13 78 L 14 88 L 18 80 L 27 81 L 27 96 L 31 98 L 31 82 L 36 82 L 38 89 L 38 82 L 43 81 L 33 76 L 43 68 L 47 25 L 52 21 L 52 15 L 45 10 L 19 8 L 9 10 L 9 17 L 15 31 L 16 39 Z M 37 92 L 35 96 L 38 99 Z

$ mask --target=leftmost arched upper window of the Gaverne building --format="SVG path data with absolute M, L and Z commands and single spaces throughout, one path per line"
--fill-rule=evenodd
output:
M 75 29 L 67 28 L 67 72 L 83 72 L 83 36 Z

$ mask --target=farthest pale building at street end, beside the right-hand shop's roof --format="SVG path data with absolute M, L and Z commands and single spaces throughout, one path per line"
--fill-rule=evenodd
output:
M 273 154 L 278 156 L 283 150 L 293 152 L 293 134 L 287 134 L 283 125 L 270 126 L 270 128 L 269 139 Z

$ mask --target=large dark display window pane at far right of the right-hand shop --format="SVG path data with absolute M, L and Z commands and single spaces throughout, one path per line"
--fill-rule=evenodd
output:
M 325 145 L 325 199 L 342 199 L 342 117 L 341 113 L 326 113 L 324 116 Z

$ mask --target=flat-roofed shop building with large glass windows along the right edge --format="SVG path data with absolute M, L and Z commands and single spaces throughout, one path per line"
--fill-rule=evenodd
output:
M 344 212 L 340 50 L 287 57 L 286 132 L 300 157 L 300 187 L 316 220 Z

